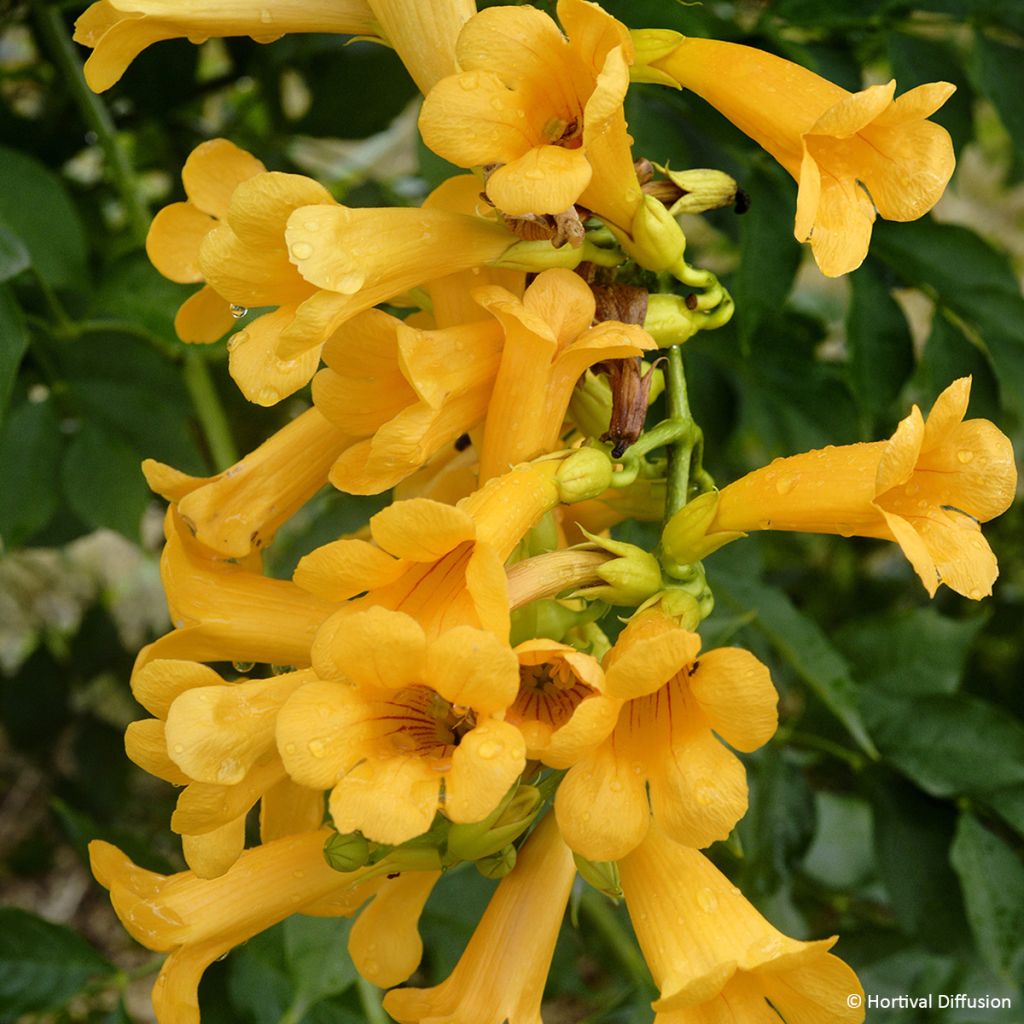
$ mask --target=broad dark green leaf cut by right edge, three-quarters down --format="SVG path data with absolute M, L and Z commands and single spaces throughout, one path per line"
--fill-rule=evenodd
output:
M 1024 725 L 995 705 L 865 689 L 862 707 L 883 756 L 933 797 L 1024 783 Z

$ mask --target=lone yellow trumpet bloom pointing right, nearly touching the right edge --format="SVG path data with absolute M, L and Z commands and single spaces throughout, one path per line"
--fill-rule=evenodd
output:
M 998 565 L 979 523 L 1010 507 L 1017 467 L 993 423 L 964 419 L 970 395 L 963 377 L 927 422 L 914 406 L 888 441 L 776 459 L 749 473 L 718 496 L 701 543 L 751 529 L 883 538 L 899 544 L 929 594 L 940 584 L 972 600 L 990 594 Z

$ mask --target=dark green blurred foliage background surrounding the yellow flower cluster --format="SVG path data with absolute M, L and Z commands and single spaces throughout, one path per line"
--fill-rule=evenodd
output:
M 552 4 L 539 4 L 551 9 Z M 849 89 L 955 83 L 936 115 L 958 169 L 934 214 L 880 222 L 855 273 L 823 279 L 793 239 L 795 187 L 691 95 L 636 87 L 637 155 L 720 167 L 743 217 L 685 227 L 737 315 L 687 343 L 710 468 L 888 436 L 909 403 L 974 378 L 972 415 L 1024 451 L 1024 4 L 986 0 L 616 0 L 633 27 L 751 43 Z M 139 716 L 133 652 L 167 628 L 161 510 L 144 457 L 193 473 L 233 461 L 308 403 L 248 406 L 224 343 L 189 347 L 186 294 L 150 266 L 148 218 L 181 198 L 190 150 L 231 138 L 312 174 L 351 205 L 419 202 L 447 168 L 415 131 L 397 58 L 331 36 L 158 44 L 101 97 L 70 42 L 82 2 L 0 0 L 0 1020 L 152 1019 L 159 957 L 120 930 L 86 842 L 181 865 L 175 794 L 122 732 Z M 378 507 L 318 496 L 270 571 Z M 761 537 L 710 559 L 706 645 L 749 646 L 782 695 L 751 757 L 751 810 L 713 851 L 780 928 L 842 934 L 868 992 L 1007 995 L 1014 1011 L 874 1011 L 887 1024 L 1010 1024 L 1024 1013 L 1024 510 L 986 527 L 1000 563 L 980 604 L 929 601 L 893 545 Z M 651 541 L 650 529 L 623 536 Z M 493 884 L 443 880 L 423 922 L 420 981 L 443 977 Z M 378 1021 L 344 952 L 347 923 L 294 918 L 208 973 L 204 1021 Z M 622 908 L 583 892 L 559 943 L 549 1024 L 648 1020 Z

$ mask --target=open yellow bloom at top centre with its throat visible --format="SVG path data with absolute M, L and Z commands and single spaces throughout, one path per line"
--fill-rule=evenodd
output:
M 506 214 L 579 201 L 628 229 L 640 202 L 623 115 L 632 42 L 596 4 L 560 0 L 558 16 L 568 39 L 531 7 L 471 18 L 456 47 L 461 70 L 428 93 L 420 130 L 461 167 L 498 165 L 486 194 Z

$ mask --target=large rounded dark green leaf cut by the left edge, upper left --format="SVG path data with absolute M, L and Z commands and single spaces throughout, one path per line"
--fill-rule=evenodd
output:
M 85 278 L 85 231 L 63 183 L 34 157 L 6 146 L 0 146 L 0 225 L 17 236 L 51 288 Z

